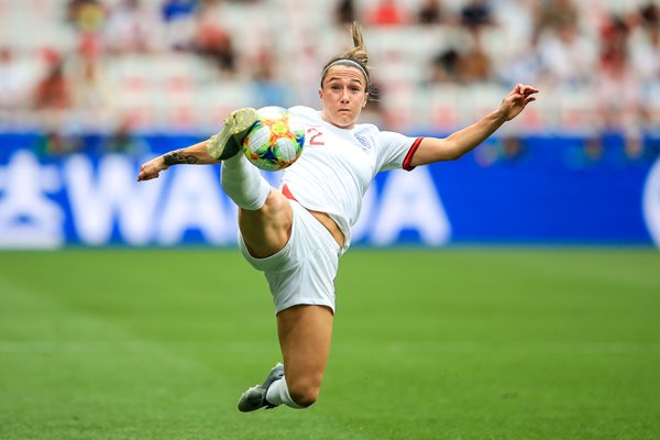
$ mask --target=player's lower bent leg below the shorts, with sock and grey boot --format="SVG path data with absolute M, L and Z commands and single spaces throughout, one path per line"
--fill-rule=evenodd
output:
M 277 315 L 277 332 L 285 365 L 277 364 L 263 384 L 239 399 L 241 411 L 282 404 L 306 408 L 319 395 L 330 353 L 332 311 L 323 306 L 295 306 Z

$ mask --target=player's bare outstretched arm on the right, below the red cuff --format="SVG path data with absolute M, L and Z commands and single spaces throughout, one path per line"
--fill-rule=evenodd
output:
M 442 161 L 454 161 L 474 150 L 506 121 L 516 118 L 529 102 L 536 100 L 538 89 L 518 84 L 502 100 L 499 108 L 476 123 L 457 131 L 444 139 L 425 138 L 419 144 L 410 165 L 419 166 Z

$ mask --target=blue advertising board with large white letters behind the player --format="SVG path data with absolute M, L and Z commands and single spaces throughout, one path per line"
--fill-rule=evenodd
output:
M 0 134 L 0 248 L 235 245 L 218 166 L 135 182 L 140 163 L 196 139 L 146 135 L 140 155 L 101 153 L 101 140 L 52 156 L 38 154 L 38 134 Z M 596 151 L 581 138 L 529 136 L 514 147 L 491 139 L 457 162 L 382 173 L 353 242 L 660 246 L 658 144 L 648 140 L 632 160 L 616 136 Z M 277 185 L 277 173 L 265 175 Z

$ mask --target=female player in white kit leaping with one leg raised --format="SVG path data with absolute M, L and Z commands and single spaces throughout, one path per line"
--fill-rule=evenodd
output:
M 351 226 L 374 176 L 461 157 L 518 116 L 538 92 L 517 85 L 498 109 L 446 139 L 380 131 L 358 123 L 371 85 L 356 23 L 352 36 L 354 47 L 321 73 L 322 110 L 289 109 L 307 127 L 305 150 L 284 172 L 279 189 L 237 154 L 255 121 L 254 109 L 235 110 L 217 135 L 140 168 L 138 180 L 147 180 L 172 165 L 222 162 L 222 187 L 239 207 L 239 245 L 266 276 L 284 358 L 284 365 L 275 365 L 263 384 L 243 393 L 241 411 L 282 404 L 305 408 L 317 400 L 330 350 L 339 257 L 351 243 Z

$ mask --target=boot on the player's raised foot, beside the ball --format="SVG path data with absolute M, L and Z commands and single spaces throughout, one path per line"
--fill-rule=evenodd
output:
M 220 133 L 212 135 L 207 142 L 209 155 L 224 161 L 237 154 L 254 122 L 256 122 L 256 110 L 244 108 L 232 111 L 224 120 Z

